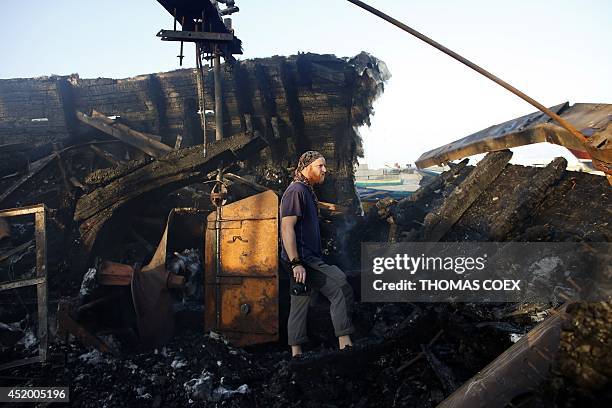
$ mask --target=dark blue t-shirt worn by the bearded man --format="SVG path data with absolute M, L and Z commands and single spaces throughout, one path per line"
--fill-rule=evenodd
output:
M 313 256 L 321 258 L 323 251 L 319 230 L 319 213 L 314 194 L 308 186 L 297 181 L 289 184 L 283 198 L 281 198 L 280 207 L 281 220 L 283 217 L 291 215 L 298 217 L 295 224 L 298 257 L 300 259 L 308 259 Z M 281 258 L 289 261 L 284 244 L 282 245 Z

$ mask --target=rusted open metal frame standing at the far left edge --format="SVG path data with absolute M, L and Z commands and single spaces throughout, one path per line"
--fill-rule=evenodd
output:
M 28 207 L 11 208 L 0 211 L 0 217 L 15 217 L 19 215 L 34 215 L 34 240 L 36 242 L 36 278 L 3 282 L 1 290 L 14 289 L 24 286 L 36 286 L 36 304 L 38 308 L 38 356 L 29 359 L 13 361 L 3 364 L 0 370 L 17 367 L 24 364 L 47 361 L 48 321 L 47 321 L 47 233 L 46 212 L 44 204 Z

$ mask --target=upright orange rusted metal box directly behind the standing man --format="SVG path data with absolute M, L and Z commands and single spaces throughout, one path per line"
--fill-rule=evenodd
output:
M 214 213 L 205 242 L 206 330 L 237 346 L 278 340 L 278 196 L 267 191 L 222 207 L 218 288 Z

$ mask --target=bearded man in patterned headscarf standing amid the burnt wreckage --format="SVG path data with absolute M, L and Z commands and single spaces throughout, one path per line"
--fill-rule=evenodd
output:
M 308 341 L 306 318 L 310 299 L 321 292 L 331 302 L 330 313 L 340 349 L 352 346 L 350 311 L 353 290 L 338 267 L 321 260 L 318 201 L 313 186 L 325 180 L 325 158 L 316 151 L 304 153 L 295 178 L 281 199 L 281 260 L 291 279 L 291 309 L 287 323 L 291 354 L 302 354 Z

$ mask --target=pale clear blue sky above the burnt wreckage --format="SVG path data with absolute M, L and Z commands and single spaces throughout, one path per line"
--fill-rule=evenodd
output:
M 369 0 L 545 105 L 612 102 L 612 1 Z M 232 16 L 242 58 L 298 51 L 353 56 L 368 51 L 393 75 L 362 129 L 372 166 L 421 153 L 535 109 L 407 33 L 345 0 L 237 0 Z M 178 68 L 178 45 L 154 0 L 4 1 L 0 78 L 128 77 Z M 194 66 L 186 46 L 185 66 Z M 515 161 L 567 155 L 541 145 Z M 571 156 L 568 156 L 571 157 Z

